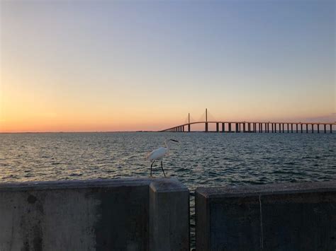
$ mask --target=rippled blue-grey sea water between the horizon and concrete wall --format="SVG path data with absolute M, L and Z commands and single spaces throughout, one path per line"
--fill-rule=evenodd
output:
M 191 247 L 196 187 L 336 180 L 336 134 L 128 132 L 0 134 L 0 182 L 148 177 L 146 154 L 169 138 L 165 173 L 191 190 Z

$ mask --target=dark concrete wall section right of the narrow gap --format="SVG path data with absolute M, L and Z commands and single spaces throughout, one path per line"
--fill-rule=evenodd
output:
M 198 188 L 196 250 L 336 250 L 336 182 Z

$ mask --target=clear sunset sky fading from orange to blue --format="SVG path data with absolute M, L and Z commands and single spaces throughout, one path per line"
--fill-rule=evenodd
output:
M 336 121 L 335 1 L 1 0 L 0 132 Z

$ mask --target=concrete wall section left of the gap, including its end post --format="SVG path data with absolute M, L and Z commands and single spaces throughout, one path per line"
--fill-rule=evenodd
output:
M 189 250 L 189 190 L 175 179 L 3 184 L 0 250 Z

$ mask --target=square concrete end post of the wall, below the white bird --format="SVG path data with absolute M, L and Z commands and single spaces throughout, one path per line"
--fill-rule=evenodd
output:
M 179 182 L 150 184 L 150 250 L 189 250 L 189 190 Z

